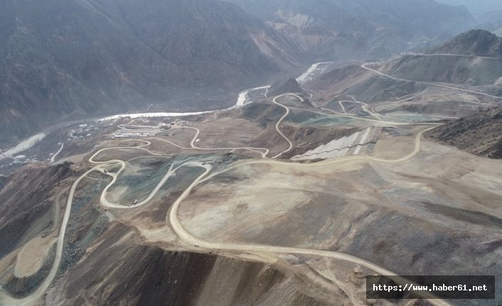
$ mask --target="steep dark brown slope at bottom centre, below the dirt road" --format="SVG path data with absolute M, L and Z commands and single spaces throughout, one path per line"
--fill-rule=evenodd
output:
M 329 305 L 301 293 L 298 282 L 264 263 L 141 246 L 115 224 L 46 305 Z

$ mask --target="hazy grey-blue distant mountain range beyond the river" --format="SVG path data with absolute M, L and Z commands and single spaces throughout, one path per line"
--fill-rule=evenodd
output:
M 56 121 L 228 106 L 311 62 L 387 58 L 475 24 L 432 0 L 230 2 L 2 1 L 0 148 Z

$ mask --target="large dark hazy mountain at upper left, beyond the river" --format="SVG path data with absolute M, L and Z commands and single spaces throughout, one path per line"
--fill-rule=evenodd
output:
M 4 0 L 0 40 L 0 144 L 149 104 L 221 107 L 206 97 L 298 65 L 277 31 L 211 0 Z

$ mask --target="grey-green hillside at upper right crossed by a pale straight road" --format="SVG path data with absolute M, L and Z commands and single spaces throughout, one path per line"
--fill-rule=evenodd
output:
M 346 112 L 354 106 L 361 108 L 361 102 L 364 102 L 373 104 L 370 108 L 373 111 L 379 109 L 380 114 L 410 111 L 433 117 L 471 115 L 478 110 L 476 104 L 497 106 L 499 100 L 496 97 L 502 97 L 502 58 L 476 55 L 486 55 L 479 50 L 495 50 L 491 47 L 496 45 L 492 40 L 488 39 L 491 43 L 486 44 L 486 33 L 469 31 L 445 44 L 454 46 L 458 55 L 447 53 L 452 50 L 446 50 L 442 45 L 427 54 L 410 52 L 363 65 L 331 66 L 331 70 L 306 84 L 306 89 L 314 93 L 312 100 L 316 106 L 334 111 Z M 461 39 L 466 37 L 469 43 Z M 493 38 L 493 35 L 488 33 L 488 38 Z M 472 47 L 481 45 L 488 47 Z M 480 94 L 477 97 L 471 94 L 465 97 L 444 93 L 436 95 L 437 87 L 466 89 Z M 364 109 L 360 113 L 369 114 Z

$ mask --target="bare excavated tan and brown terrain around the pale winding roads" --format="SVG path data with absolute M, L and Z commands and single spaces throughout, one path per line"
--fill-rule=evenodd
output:
M 377 117 L 368 121 L 368 115 L 329 116 L 311 105 L 296 109 L 297 100 L 279 100 L 290 105 L 285 117 L 283 107 L 256 102 L 228 116 L 193 118 L 190 126 L 155 138 L 104 138 L 99 148 L 112 148 L 85 153 L 76 165 L 32 165 L 29 172 L 4 177 L 0 207 L 12 221 L 1 227 L 7 246 L 0 261 L 2 290 L 30 297 L 50 275 L 68 189 L 97 165 L 106 171 L 96 168 L 75 189 L 61 263 L 42 305 L 371 303 L 363 288 L 365 275 L 375 273 L 372 268 L 347 259 L 275 253 L 279 247 L 340 252 L 402 274 L 502 275 L 496 242 L 502 226 L 496 204 L 502 173 L 496 161 L 429 141 L 422 141 L 417 155 L 402 159 L 429 124 L 388 126 Z M 289 160 L 327 144 L 339 150 L 361 141 L 372 148 L 361 149 L 359 159 L 328 159 L 326 165 L 324 158 L 311 160 L 316 163 Z M 242 146 L 283 154 L 263 159 L 260 151 Z M 106 207 L 100 197 L 112 182 L 110 175 L 121 168 L 107 160 L 124 161 L 105 195 L 123 207 Z M 249 246 L 246 251 L 186 244 L 169 221 L 173 203 L 203 175 L 201 168 L 176 170 L 149 202 L 138 204 L 166 173 L 188 160 L 210 163 L 212 173 L 229 170 L 189 192 L 178 207 L 179 222 L 198 239 Z M 253 160 L 263 164 L 242 164 Z M 40 185 L 40 193 L 27 189 L 32 185 Z M 43 244 L 41 239 L 48 240 Z M 269 251 L 256 251 L 256 244 Z

